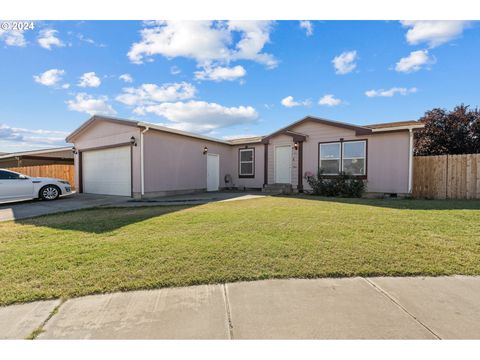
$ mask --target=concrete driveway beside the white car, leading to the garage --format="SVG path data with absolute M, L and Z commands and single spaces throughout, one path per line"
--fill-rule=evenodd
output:
M 55 201 L 29 200 L 6 203 L 0 204 L 0 221 L 20 220 L 95 206 L 121 205 L 126 204 L 129 200 L 131 199 L 125 196 L 72 194 Z

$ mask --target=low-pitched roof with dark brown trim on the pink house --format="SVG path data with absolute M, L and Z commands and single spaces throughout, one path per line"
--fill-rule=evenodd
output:
M 127 125 L 127 126 L 133 126 L 133 127 L 140 127 L 143 129 L 152 129 L 152 130 L 157 130 L 157 131 L 163 131 L 167 133 L 172 133 L 172 134 L 177 134 L 177 135 L 182 135 L 182 136 L 188 136 L 192 138 L 197 138 L 197 139 L 203 139 L 203 140 L 208 140 L 212 142 L 217 142 L 221 144 L 226 144 L 226 145 L 242 145 L 242 144 L 253 144 L 253 143 L 260 143 L 262 141 L 267 141 L 269 138 L 282 134 L 282 133 L 288 133 L 288 134 L 294 134 L 298 135 L 300 137 L 306 137 L 308 134 L 300 134 L 292 131 L 292 129 L 295 126 L 298 126 L 301 123 L 304 123 L 306 121 L 313 121 L 316 123 L 321 123 L 325 125 L 330 125 L 330 126 L 335 126 L 335 127 L 340 127 L 340 128 L 345 128 L 349 130 L 355 131 L 356 135 L 369 135 L 375 132 L 380 132 L 380 131 L 399 131 L 399 130 L 408 130 L 409 128 L 421 128 L 423 127 L 423 124 L 418 122 L 418 121 L 398 121 L 398 122 L 392 122 L 392 123 L 383 123 L 383 124 L 373 124 L 373 125 L 354 125 L 354 124 L 349 124 L 345 122 L 340 122 L 340 121 L 334 121 L 334 120 L 328 120 L 324 118 L 319 118 L 315 116 L 306 116 L 280 130 L 277 130 L 267 136 L 252 136 L 252 137 L 244 137 L 244 138 L 238 138 L 238 139 L 230 139 L 230 140 L 221 140 L 221 139 L 216 139 L 210 136 L 205 136 L 205 135 L 200 135 L 200 134 L 195 134 L 187 131 L 182 131 L 182 130 L 177 130 L 177 129 L 172 129 L 166 126 L 161 126 L 153 123 L 148 123 L 144 121 L 136 121 L 136 120 L 127 120 L 127 119 L 120 119 L 120 118 L 113 118 L 109 116 L 99 116 L 99 115 L 94 115 L 90 119 L 88 119 L 86 122 L 84 122 L 80 127 L 78 127 L 76 130 L 74 130 L 70 135 L 67 136 L 66 141 L 67 142 L 73 142 L 74 138 L 82 133 L 88 126 L 90 126 L 93 122 L 96 121 L 108 121 L 112 123 L 117 123 L 117 124 L 122 124 L 122 125 Z M 1 156 L 0 156 L 1 158 Z

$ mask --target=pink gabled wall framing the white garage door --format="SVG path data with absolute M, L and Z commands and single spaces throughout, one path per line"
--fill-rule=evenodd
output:
M 106 121 L 99 121 L 90 126 L 77 136 L 74 146 L 78 151 L 84 149 L 109 146 L 127 143 L 134 136 L 137 139 L 137 146 L 132 147 L 133 163 L 133 192 L 141 192 L 140 184 L 140 129 L 133 126 L 115 124 Z M 75 184 L 79 182 L 79 155 L 75 154 Z

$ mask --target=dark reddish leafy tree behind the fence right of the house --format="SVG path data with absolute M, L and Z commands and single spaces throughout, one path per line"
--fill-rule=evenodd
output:
M 459 105 L 453 111 L 435 108 L 420 118 L 425 127 L 415 132 L 415 155 L 480 153 L 480 112 Z

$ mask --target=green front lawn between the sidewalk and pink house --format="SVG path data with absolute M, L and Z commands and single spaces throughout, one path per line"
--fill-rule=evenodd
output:
M 267 197 L 0 223 L 0 304 L 286 277 L 480 274 L 480 202 Z

